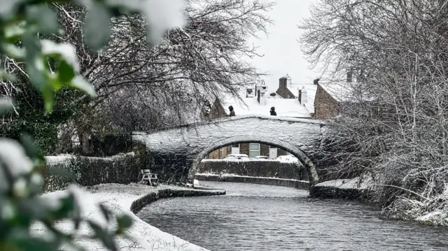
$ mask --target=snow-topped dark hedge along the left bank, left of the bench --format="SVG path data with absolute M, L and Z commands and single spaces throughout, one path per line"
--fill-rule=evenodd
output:
M 73 179 L 82 186 L 98 185 L 102 183 L 129 184 L 136 182 L 139 172 L 146 165 L 146 156 L 128 152 L 112 157 L 83 157 L 83 156 L 48 156 L 44 171 L 45 192 L 64 189 L 70 184 L 68 177 L 52 174 L 69 171 Z

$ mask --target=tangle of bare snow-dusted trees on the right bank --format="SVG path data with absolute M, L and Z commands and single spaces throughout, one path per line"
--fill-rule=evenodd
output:
M 447 1 L 321 0 L 302 50 L 337 82 L 353 71 L 356 106 L 332 123 L 326 162 L 372 173 L 376 199 L 428 201 L 447 183 Z M 418 203 L 414 203 L 417 205 Z M 393 206 L 392 206 L 393 208 Z

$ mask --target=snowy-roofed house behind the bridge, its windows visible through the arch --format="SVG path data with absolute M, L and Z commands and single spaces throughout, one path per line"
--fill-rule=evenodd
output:
M 209 119 L 225 117 L 233 106 L 235 115 L 269 115 L 271 107 L 275 107 L 277 116 L 298 117 L 311 119 L 307 106 L 297 99 L 283 99 L 276 92 L 269 92 L 267 86 L 261 81 L 256 85 L 250 85 L 239 92 L 239 96 L 227 96 L 221 102 L 216 99 L 209 109 Z M 276 148 L 272 145 L 262 143 L 239 143 L 228 145 L 221 149 L 210 152 L 208 158 L 223 159 L 230 153 L 246 154 L 253 158 L 255 156 L 267 156 L 276 159 L 281 155 L 289 155 L 286 150 Z

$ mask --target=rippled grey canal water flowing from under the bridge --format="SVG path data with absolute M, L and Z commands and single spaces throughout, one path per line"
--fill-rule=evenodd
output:
M 138 216 L 209 250 L 448 250 L 448 228 L 379 219 L 353 201 L 288 187 L 201 182 L 224 196 L 162 199 Z

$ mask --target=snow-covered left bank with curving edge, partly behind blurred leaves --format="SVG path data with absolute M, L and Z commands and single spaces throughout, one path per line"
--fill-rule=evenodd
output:
M 140 184 L 102 184 L 80 189 L 78 198 L 80 200 L 82 217 L 94 220 L 103 227 L 106 226 L 106 221 L 97 206 L 98 203 L 103 203 L 112 213 L 125 213 L 132 217 L 133 224 L 127 233 L 132 237 L 132 241 L 117 238 L 116 242 L 120 250 L 205 250 L 147 224 L 132 213 L 131 207 L 136 207 L 136 201 L 140 203 L 137 207 L 141 208 L 141 206 L 144 206 L 142 203 L 151 202 L 165 196 L 176 196 L 176 192 L 179 195 L 187 194 L 186 196 L 194 196 L 195 193 L 201 195 L 225 194 L 224 190 L 199 190 L 168 185 L 150 187 Z M 43 197 L 51 201 L 52 198 L 62 196 L 64 193 L 66 193 L 66 190 L 44 194 Z M 150 200 L 148 200 L 149 197 L 151 197 Z M 57 224 L 57 228 L 69 232 L 73 231 L 73 224 L 62 221 Z M 45 234 L 45 227 L 41 224 L 33 224 L 31 230 L 35 234 Z M 80 233 L 89 234 L 90 228 L 82 226 Z M 80 240 L 78 244 L 83 246 L 85 250 L 104 250 L 102 244 L 97 241 Z

